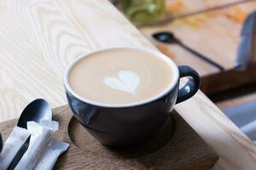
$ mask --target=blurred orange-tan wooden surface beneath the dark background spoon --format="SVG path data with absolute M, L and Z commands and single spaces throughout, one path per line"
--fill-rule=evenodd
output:
M 174 20 L 164 26 L 141 28 L 143 34 L 160 48 L 177 65 L 191 65 L 200 75 L 218 73 L 205 61 L 197 59 L 177 45 L 166 45 L 153 40 L 151 35 L 158 31 L 172 31 L 183 43 L 230 70 L 235 65 L 236 51 L 240 42 L 240 32 L 247 14 L 256 8 L 256 2 L 241 3 L 229 8 L 214 10 Z

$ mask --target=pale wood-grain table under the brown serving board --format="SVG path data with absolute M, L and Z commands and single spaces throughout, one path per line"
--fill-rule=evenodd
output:
M 2 0 L 0 8 L 2 121 L 32 99 L 67 104 L 63 71 L 79 54 L 116 46 L 157 50 L 107 0 Z M 253 142 L 203 93 L 175 109 L 218 153 L 215 169 L 255 168 Z

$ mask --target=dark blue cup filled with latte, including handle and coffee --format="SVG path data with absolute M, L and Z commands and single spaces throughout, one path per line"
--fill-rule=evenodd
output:
M 189 81 L 179 88 L 179 79 Z M 147 48 L 108 48 L 76 59 L 64 76 L 77 120 L 102 144 L 141 144 L 200 87 L 198 73 Z

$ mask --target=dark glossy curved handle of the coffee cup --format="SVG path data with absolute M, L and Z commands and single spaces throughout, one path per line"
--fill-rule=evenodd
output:
M 193 68 L 187 65 L 180 65 L 178 66 L 178 71 L 179 79 L 182 77 L 190 78 L 189 81 L 183 86 L 183 88 L 180 88 L 178 90 L 176 104 L 181 103 L 194 96 L 200 88 L 201 83 L 199 74 Z

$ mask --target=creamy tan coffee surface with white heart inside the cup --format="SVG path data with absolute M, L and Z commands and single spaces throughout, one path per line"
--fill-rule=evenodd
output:
M 119 105 L 153 98 L 170 86 L 172 77 L 172 67 L 157 54 L 112 48 L 79 59 L 68 82 L 84 99 Z

